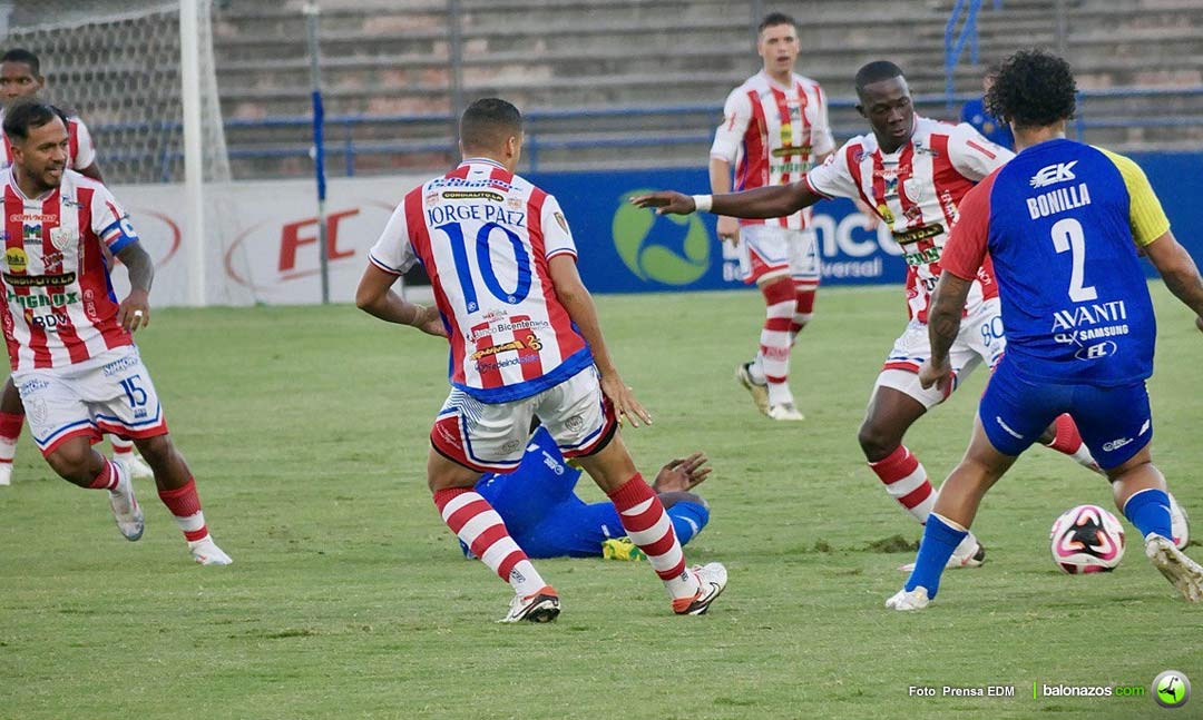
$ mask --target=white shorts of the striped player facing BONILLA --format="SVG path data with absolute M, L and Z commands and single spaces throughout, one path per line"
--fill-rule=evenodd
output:
M 948 391 L 942 392 L 935 386 L 924 389 L 919 385 L 919 368 L 931 357 L 931 341 L 928 325 L 912 320 L 894 341 L 894 350 L 885 358 L 885 365 L 877 376 L 873 391 L 876 392 L 877 387 L 890 387 L 911 395 L 931 410 L 943 403 L 960 381 L 968 377 L 983 362 L 994 371 L 1006 349 L 1007 339 L 1003 335 L 998 301 L 986 301 L 972 315 L 961 320 L 961 329 L 948 351 L 948 359 L 953 365 L 953 382 Z

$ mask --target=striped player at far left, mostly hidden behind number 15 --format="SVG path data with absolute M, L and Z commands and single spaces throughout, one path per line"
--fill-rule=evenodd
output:
M 13 48 L 0 55 L 0 103 L 4 106 L 0 107 L 0 123 L 4 121 L 5 108 L 36 99 L 45 87 L 42 63 L 36 54 Z M 0 133 L 0 169 L 10 165 L 12 165 L 12 148 L 8 138 Z M 91 133 L 77 117 L 67 117 L 67 167 L 94 180 L 103 182 L 100 166 L 96 163 Z M 24 424 L 25 409 L 10 377 L 0 391 L 0 486 L 12 482 L 17 440 Z M 150 469 L 134 453 L 132 442 L 117 435 L 109 438 L 113 444 L 113 460 L 125 465 L 134 477 L 152 477 Z

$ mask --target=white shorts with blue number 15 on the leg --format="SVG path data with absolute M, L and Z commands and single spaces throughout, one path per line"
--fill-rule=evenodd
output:
M 167 433 L 159 394 L 136 345 L 65 368 L 20 370 L 12 380 L 42 456 L 81 435 L 99 442 L 102 433 L 129 439 Z

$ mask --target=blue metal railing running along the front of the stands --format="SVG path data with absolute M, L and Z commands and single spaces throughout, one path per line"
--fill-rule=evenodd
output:
M 1078 114 L 1074 119 L 1072 129 L 1078 139 L 1083 139 L 1088 131 L 1091 129 L 1110 129 L 1110 127 L 1189 127 L 1203 125 L 1203 114 L 1183 114 L 1180 117 L 1101 117 L 1098 119 L 1089 119 L 1088 113 L 1083 112 L 1083 105 L 1095 99 L 1122 99 L 1122 97 L 1195 97 L 1203 96 L 1203 87 L 1196 88 L 1125 88 L 1125 89 L 1110 89 L 1110 90 L 1083 90 L 1078 94 Z M 952 100 L 955 103 L 964 103 L 968 100 L 976 99 L 976 94 L 959 94 L 953 95 Z M 913 97 L 914 105 L 919 108 L 940 108 L 948 102 L 948 96 L 946 94 L 940 95 L 915 95 Z M 829 106 L 837 109 L 848 109 L 855 107 L 857 101 L 854 99 L 831 99 Z M 1089 108 L 1088 108 L 1089 109 Z M 672 135 L 650 135 L 642 133 L 639 136 L 629 137 L 593 137 L 593 138 L 559 138 L 559 137 L 541 137 L 538 125 L 544 121 L 552 120 L 591 120 L 591 119 L 615 119 L 615 118 L 628 118 L 632 120 L 639 120 L 640 118 L 663 118 L 663 117 L 688 117 L 688 115 L 707 115 L 711 118 L 717 118 L 722 112 L 722 108 L 715 105 L 666 105 L 666 106 L 648 106 L 648 107 L 612 107 L 612 108 L 598 108 L 598 109 L 551 109 L 551 111 L 531 111 L 526 113 L 527 119 L 527 138 L 526 138 L 526 154 L 527 162 L 531 171 L 535 171 L 539 167 L 540 155 L 547 150 L 573 150 L 573 149 L 585 149 L 585 148 L 647 148 L 647 147 L 664 147 L 664 145 L 676 145 L 676 144 L 694 144 L 694 143 L 709 143 L 712 139 L 712 129 L 707 124 L 705 126 L 698 126 L 697 132 L 686 133 L 672 133 Z M 348 177 L 356 174 L 356 159 L 361 156 L 373 156 L 373 155 L 398 155 L 407 153 L 454 153 L 455 142 L 450 138 L 439 139 L 419 139 L 419 141 L 384 141 L 384 142 L 362 142 L 356 141 L 354 137 L 354 130 L 362 126 L 397 126 L 399 129 L 411 127 L 415 125 L 443 125 L 448 126 L 451 121 L 450 114 L 446 113 L 420 113 L 420 114 L 407 114 L 407 115 L 328 115 L 326 117 L 327 129 L 339 129 L 339 132 L 333 132 L 332 136 L 339 136 L 340 139 L 333 144 L 327 145 L 326 151 L 330 155 L 340 155 L 343 159 L 344 174 Z M 313 119 L 308 115 L 295 115 L 295 117 L 277 117 L 277 118 L 262 118 L 262 119 L 231 119 L 226 120 L 226 130 L 247 130 L 247 129 L 306 129 L 312 127 Z M 632 124 L 638 126 L 636 123 Z M 156 123 L 153 126 L 160 130 L 178 130 L 178 123 L 164 124 Z M 152 125 L 96 125 L 94 130 L 97 133 L 115 130 L 149 130 Z M 858 124 L 857 126 L 845 126 L 835 127 L 835 135 L 837 139 L 847 139 L 854 135 L 860 135 L 865 132 L 865 126 Z M 101 145 L 103 147 L 103 145 Z M 309 157 L 310 147 L 304 143 L 297 143 L 286 147 L 268 147 L 268 148 L 232 148 L 229 151 L 231 159 L 272 159 L 272 157 Z M 106 160 L 144 160 L 150 157 L 150 155 L 135 155 L 135 154 L 106 154 L 101 157 L 101 162 Z M 179 153 L 167 150 L 160 150 L 159 154 L 153 156 L 156 162 L 160 162 L 164 173 L 162 179 L 167 182 L 171 175 L 172 163 L 178 162 L 182 157 Z

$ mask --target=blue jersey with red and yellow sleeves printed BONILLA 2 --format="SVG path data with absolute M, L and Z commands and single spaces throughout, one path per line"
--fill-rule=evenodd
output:
M 1156 322 L 1137 248 L 1169 221 L 1134 162 L 1043 142 L 970 191 L 960 214 L 941 266 L 972 280 L 989 251 L 1015 373 L 1096 387 L 1152 374 Z

